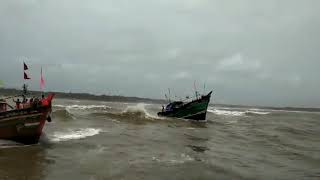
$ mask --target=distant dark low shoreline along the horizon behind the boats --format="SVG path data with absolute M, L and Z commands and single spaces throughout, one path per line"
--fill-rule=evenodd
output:
M 13 96 L 21 94 L 22 91 L 12 88 L 0 88 L 0 95 Z M 48 92 L 45 92 L 48 93 Z M 80 99 L 80 100 L 96 100 L 96 101 L 109 101 L 109 102 L 145 102 L 156 104 L 167 104 L 168 101 L 164 99 L 151 99 L 141 97 L 126 97 L 116 95 L 94 95 L 89 93 L 65 93 L 65 92 L 51 92 L 55 93 L 57 98 L 62 99 Z M 40 95 L 40 91 L 30 91 L 30 94 Z M 307 108 L 307 107 L 271 107 L 271 106 L 246 106 L 246 105 L 230 105 L 230 104 L 210 104 L 213 106 L 221 106 L 228 108 L 246 108 L 246 109 L 267 109 L 276 111 L 304 111 L 304 112 L 320 112 L 320 108 Z

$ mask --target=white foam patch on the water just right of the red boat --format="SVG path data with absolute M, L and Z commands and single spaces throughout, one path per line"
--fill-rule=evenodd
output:
M 60 142 L 74 139 L 83 139 L 86 137 L 97 135 L 100 132 L 101 129 L 95 128 L 69 129 L 67 132 L 55 132 L 50 140 L 54 142 Z

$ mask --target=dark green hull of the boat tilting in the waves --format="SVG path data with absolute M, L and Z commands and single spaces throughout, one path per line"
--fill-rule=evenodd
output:
M 180 108 L 172 111 L 158 112 L 158 116 L 184 118 L 198 121 L 206 120 L 210 97 L 211 92 L 207 96 L 203 96 L 201 99 L 187 103 Z

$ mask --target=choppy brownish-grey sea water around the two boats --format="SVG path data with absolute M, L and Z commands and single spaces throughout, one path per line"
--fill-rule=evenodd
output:
M 40 144 L 0 141 L 0 179 L 320 179 L 320 114 L 210 107 L 208 122 L 161 105 L 54 102 Z

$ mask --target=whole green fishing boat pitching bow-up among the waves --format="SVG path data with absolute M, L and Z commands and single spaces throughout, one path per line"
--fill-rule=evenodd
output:
M 158 116 L 205 121 L 211 94 L 212 91 L 207 95 L 196 95 L 196 99 L 190 102 L 170 102 L 165 107 L 162 107 L 162 111 L 158 112 Z

